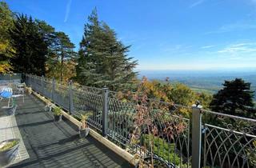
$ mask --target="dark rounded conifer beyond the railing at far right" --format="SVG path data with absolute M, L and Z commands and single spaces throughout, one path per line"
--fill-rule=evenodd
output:
M 244 82 L 241 78 L 235 78 L 233 81 L 225 81 L 223 86 L 222 90 L 214 94 L 210 102 L 211 110 L 255 118 L 254 92 L 250 90 L 250 83 Z

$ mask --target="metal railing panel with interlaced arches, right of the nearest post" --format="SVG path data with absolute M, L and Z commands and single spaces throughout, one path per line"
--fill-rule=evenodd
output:
M 256 120 L 209 110 L 202 114 L 203 166 L 256 166 Z

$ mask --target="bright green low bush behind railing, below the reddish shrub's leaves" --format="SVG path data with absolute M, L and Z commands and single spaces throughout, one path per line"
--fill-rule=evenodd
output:
M 149 144 L 153 144 L 154 154 L 166 159 L 167 161 L 173 162 L 175 165 L 180 166 L 181 158 L 178 154 L 175 154 L 175 144 L 167 143 L 166 140 L 158 137 L 154 137 L 152 134 L 143 134 L 141 138 L 142 146 L 149 149 Z

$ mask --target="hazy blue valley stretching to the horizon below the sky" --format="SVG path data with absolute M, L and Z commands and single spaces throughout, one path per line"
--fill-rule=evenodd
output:
M 194 91 L 216 93 L 222 89 L 222 83 L 225 80 L 233 80 L 234 78 L 242 78 L 246 82 L 251 83 L 251 90 L 256 91 L 256 70 L 245 71 L 187 71 L 187 70 L 141 70 L 138 78 L 146 76 L 149 80 L 164 81 L 169 78 L 169 81 L 181 82 Z M 254 99 L 256 96 L 254 94 Z

